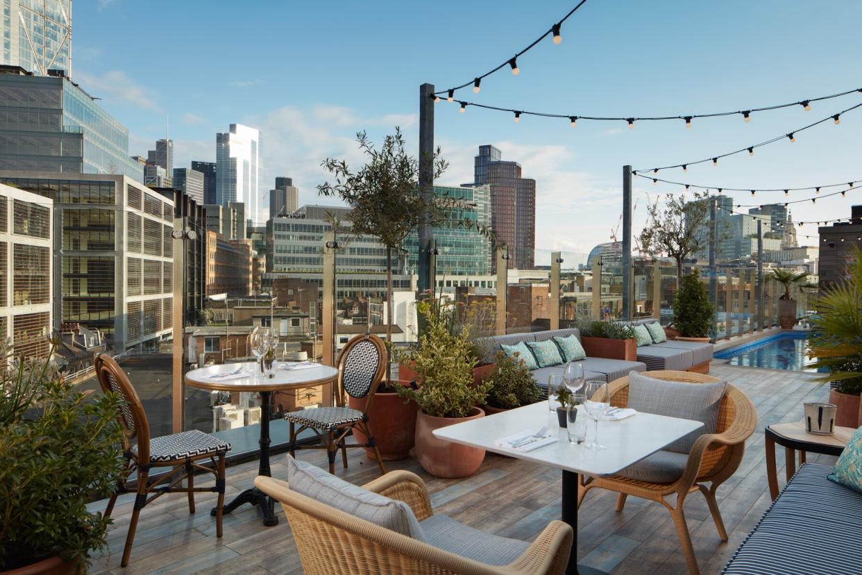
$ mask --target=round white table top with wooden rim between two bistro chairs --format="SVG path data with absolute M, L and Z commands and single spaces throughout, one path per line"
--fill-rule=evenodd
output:
M 193 369 L 185 374 L 185 383 L 204 390 L 218 391 L 280 391 L 303 386 L 328 384 L 338 376 L 338 370 L 330 366 L 317 365 L 305 369 L 286 370 L 282 366 L 295 362 L 277 361 L 275 377 L 266 378 L 259 372 L 256 362 L 221 364 Z M 210 379 L 220 373 L 233 373 L 236 370 L 246 375 L 242 378 Z

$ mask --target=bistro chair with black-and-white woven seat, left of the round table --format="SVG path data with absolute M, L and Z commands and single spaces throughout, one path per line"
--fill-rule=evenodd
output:
M 123 428 L 122 453 L 126 459 L 126 469 L 116 493 L 110 497 L 108 508 L 105 509 L 105 516 L 109 517 L 114 509 L 117 495 L 137 494 L 134 498 L 132 517 L 128 522 L 126 547 L 122 551 L 120 566 L 128 565 L 141 509 L 164 493 L 188 493 L 189 513 L 195 512 L 196 491 L 218 493 L 218 501 L 215 504 L 215 535 L 221 537 L 225 487 L 224 457 L 230 450 L 230 444 L 197 430 L 150 439 L 150 425 L 147 422 L 147 414 L 144 413 L 141 398 L 129 383 L 122 367 L 107 355 L 97 356 L 94 365 L 103 391 L 113 391 L 126 402 L 117 414 L 117 419 Z M 209 459 L 213 467 L 199 465 L 197 461 L 201 459 Z M 172 469 L 160 478 L 150 478 L 150 470 L 153 467 L 172 467 Z M 215 485 L 195 487 L 196 470 L 212 473 L 215 476 Z M 129 486 L 128 478 L 133 472 L 137 472 L 137 484 Z M 178 486 L 183 481 L 186 482 L 186 486 Z

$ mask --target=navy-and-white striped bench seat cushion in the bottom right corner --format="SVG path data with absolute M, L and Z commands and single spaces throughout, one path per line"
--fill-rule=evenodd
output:
M 728 575 L 862 573 L 862 496 L 805 464 L 724 566 Z

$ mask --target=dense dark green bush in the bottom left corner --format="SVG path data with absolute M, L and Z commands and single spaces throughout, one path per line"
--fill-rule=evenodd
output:
M 84 572 L 105 548 L 109 520 L 86 502 L 120 478 L 120 404 L 76 391 L 47 359 L 16 358 L 0 374 L 0 570 L 59 555 Z

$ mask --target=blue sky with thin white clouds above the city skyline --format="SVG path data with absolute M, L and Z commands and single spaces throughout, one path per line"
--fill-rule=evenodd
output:
M 434 3 L 297 0 L 79 0 L 72 78 L 130 131 L 132 155 L 174 140 L 174 165 L 215 161 L 215 133 L 261 130 L 260 187 L 294 178 L 300 204 L 332 203 L 315 186 L 322 159 L 359 167 L 355 134 L 373 141 L 400 126 L 418 153 L 419 86 L 464 84 L 526 47 L 576 2 Z M 562 28 L 482 82 L 467 101 L 576 116 L 686 116 L 798 102 L 862 88 L 859 0 L 588 0 Z M 711 158 L 787 134 L 862 102 L 862 94 L 753 114 L 683 121 L 580 121 L 435 105 L 434 143 L 449 168 L 438 184 L 472 181 L 482 144 L 536 180 L 536 247 L 586 253 L 610 241 L 622 210 L 622 166 L 650 169 Z M 862 181 L 862 108 L 711 163 L 659 172 L 690 184 L 784 188 Z M 635 178 L 634 231 L 648 203 L 679 186 Z M 793 192 L 791 192 L 793 193 Z M 821 192 L 821 193 L 825 193 Z M 796 192 L 790 199 L 810 197 Z M 737 203 L 755 203 L 736 193 Z M 762 192 L 756 202 L 784 201 Z M 848 217 L 846 197 L 791 206 L 794 220 Z M 268 201 L 264 203 L 268 205 Z M 797 230 L 816 234 L 815 226 Z M 622 230 L 621 232 L 622 233 Z M 815 244 L 800 236 L 800 243 Z M 540 263 L 540 262 L 537 262 Z

